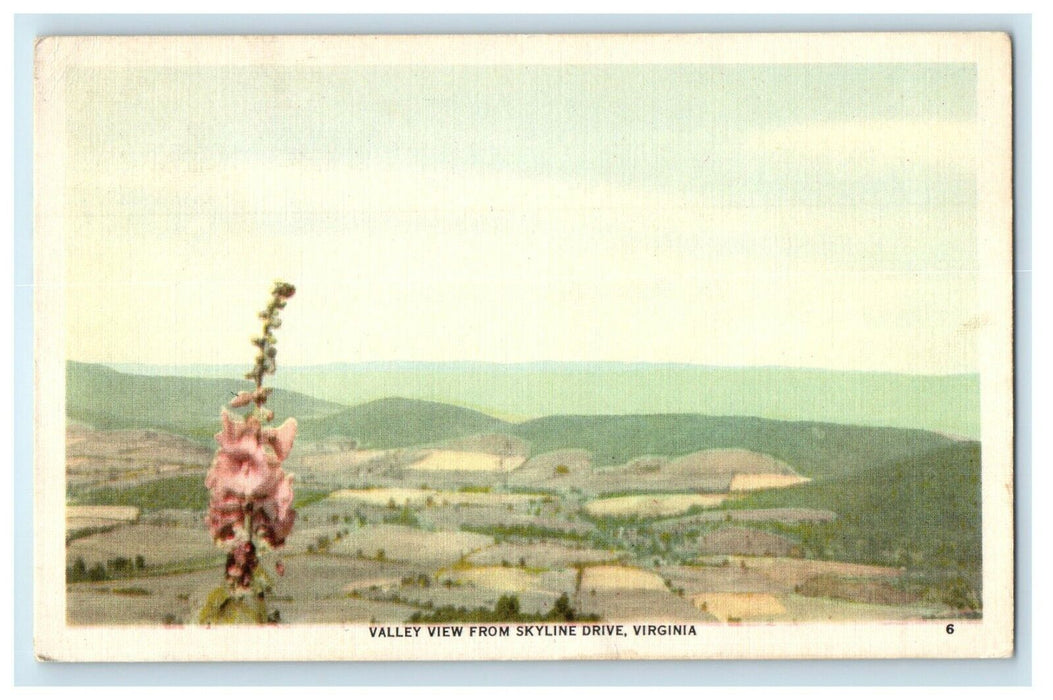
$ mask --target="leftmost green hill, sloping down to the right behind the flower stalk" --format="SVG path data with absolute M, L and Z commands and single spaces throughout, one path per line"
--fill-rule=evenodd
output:
M 212 442 L 220 409 L 252 382 L 195 377 L 146 377 L 98 364 L 66 363 L 66 416 L 101 429 L 156 428 Z M 279 420 L 312 420 L 345 406 L 277 389 L 269 402 Z

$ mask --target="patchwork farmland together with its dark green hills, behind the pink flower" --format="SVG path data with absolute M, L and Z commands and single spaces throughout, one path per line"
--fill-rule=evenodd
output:
M 184 394 L 211 397 L 218 381 Z M 497 615 L 510 596 L 517 614 L 617 621 L 982 614 L 973 441 L 695 415 L 511 423 L 404 399 L 281 398 L 304 412 L 286 462 L 296 525 L 261 565 L 281 623 Z M 204 525 L 203 414 L 144 424 L 80 395 L 69 403 L 67 619 L 196 624 L 225 557 Z

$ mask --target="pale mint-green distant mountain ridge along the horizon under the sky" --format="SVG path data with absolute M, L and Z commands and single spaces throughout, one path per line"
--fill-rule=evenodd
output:
M 240 377 L 240 365 L 119 365 L 143 375 Z M 406 397 L 523 421 L 557 415 L 700 414 L 920 428 L 979 437 L 979 378 L 639 362 L 364 362 L 283 366 L 276 386 L 343 405 Z

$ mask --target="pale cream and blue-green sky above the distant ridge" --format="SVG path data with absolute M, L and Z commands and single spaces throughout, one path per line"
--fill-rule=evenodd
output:
M 67 347 L 976 369 L 971 64 L 77 68 Z

